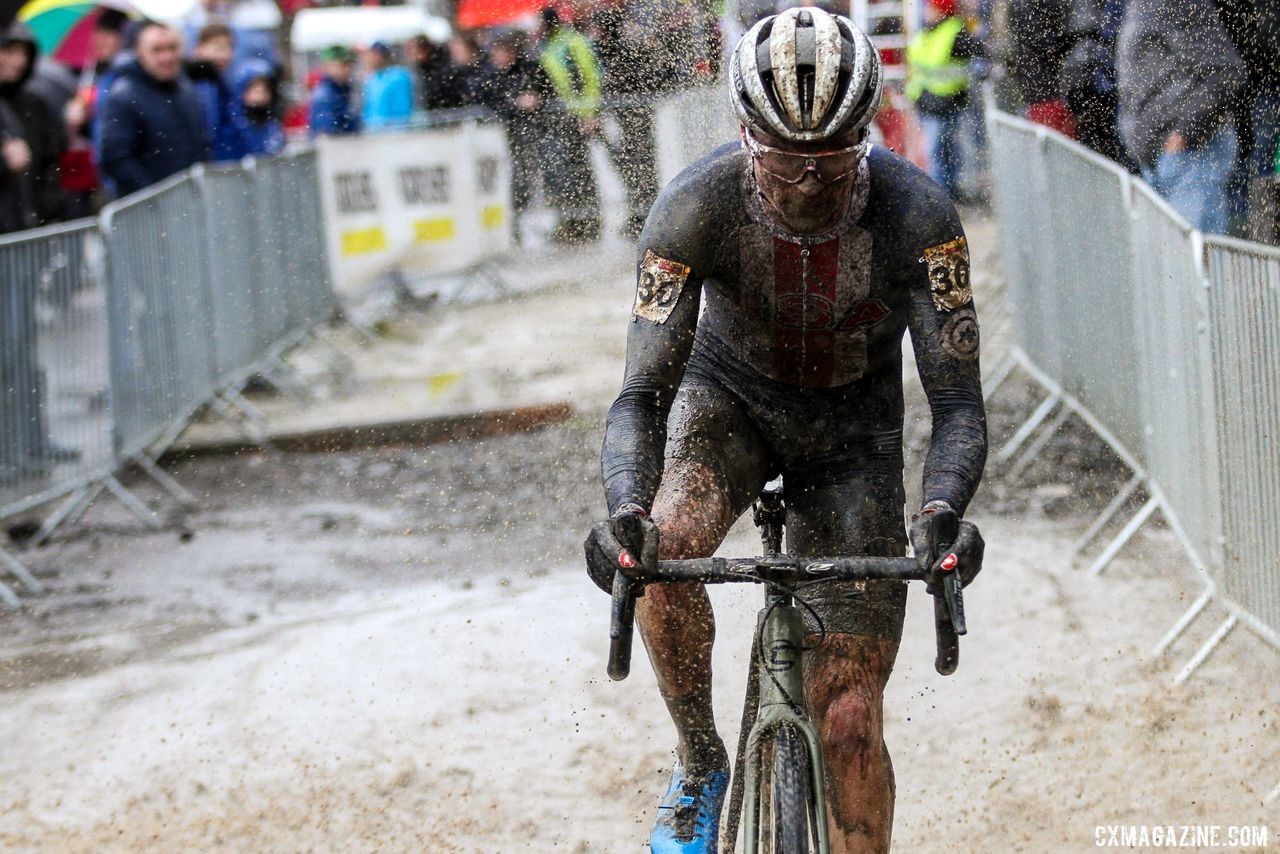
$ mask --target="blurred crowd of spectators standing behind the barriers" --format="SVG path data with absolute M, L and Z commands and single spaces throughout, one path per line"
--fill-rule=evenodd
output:
M 635 236 L 658 191 L 655 100 L 714 83 L 774 3 L 545 3 L 33 0 L 0 45 L 0 232 L 291 140 L 488 117 L 507 128 L 517 234 L 540 201 L 550 239 L 600 236 L 596 147 Z M 822 5 L 881 47 L 878 138 L 957 200 L 986 195 L 989 81 L 1002 105 L 1142 174 L 1193 225 L 1274 239 L 1280 3 Z

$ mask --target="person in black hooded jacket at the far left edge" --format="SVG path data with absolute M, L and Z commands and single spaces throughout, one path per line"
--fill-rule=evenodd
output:
M 31 29 L 23 23 L 10 24 L 0 41 L 0 101 L 18 118 L 20 136 L 27 142 L 31 205 L 36 223 L 44 225 L 60 222 L 67 213 L 67 197 L 58 175 L 58 159 L 67 149 L 67 133 L 63 117 L 29 90 L 37 55 Z

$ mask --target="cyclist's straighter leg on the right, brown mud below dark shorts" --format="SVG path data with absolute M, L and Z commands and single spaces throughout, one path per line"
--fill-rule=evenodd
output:
M 787 528 L 800 554 L 905 554 L 901 476 L 867 474 L 799 489 L 788 483 Z M 882 698 L 902 635 L 906 585 L 820 585 L 805 599 L 826 631 L 824 643 L 805 657 L 805 695 L 827 764 L 831 850 L 887 851 L 893 766 Z M 806 622 L 812 645 L 818 625 L 809 615 Z

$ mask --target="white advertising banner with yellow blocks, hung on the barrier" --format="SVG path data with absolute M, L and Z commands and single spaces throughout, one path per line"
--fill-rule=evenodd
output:
M 334 289 L 358 300 L 393 270 L 462 273 L 511 246 L 511 165 L 500 127 L 321 137 Z

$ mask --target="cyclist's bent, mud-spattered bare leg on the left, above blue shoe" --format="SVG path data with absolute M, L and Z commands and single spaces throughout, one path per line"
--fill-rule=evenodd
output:
M 672 406 L 667 465 L 654 499 L 659 557 L 707 557 L 768 479 L 759 434 L 726 391 L 686 375 Z M 680 736 L 680 761 L 694 776 L 727 767 L 712 714 L 716 620 L 700 584 L 653 585 L 636 602 L 636 622 L 658 688 Z

